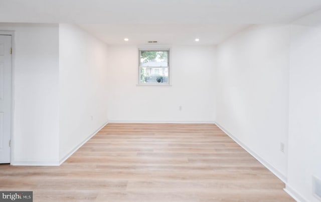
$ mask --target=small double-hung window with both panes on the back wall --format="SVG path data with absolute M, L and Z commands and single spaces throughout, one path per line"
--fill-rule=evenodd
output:
M 139 84 L 169 84 L 169 58 L 169 49 L 139 49 Z

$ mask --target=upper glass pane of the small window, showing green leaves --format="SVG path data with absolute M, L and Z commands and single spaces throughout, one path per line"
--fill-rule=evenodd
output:
M 140 67 L 168 67 L 168 51 L 140 51 Z

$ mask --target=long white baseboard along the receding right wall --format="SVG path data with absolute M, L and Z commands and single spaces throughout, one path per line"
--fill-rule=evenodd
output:
M 269 169 L 274 175 L 276 175 L 279 179 L 281 179 L 284 183 L 286 183 L 287 178 L 284 174 L 282 174 L 277 168 L 275 168 L 271 163 L 264 160 L 259 154 L 248 148 L 243 142 L 241 142 L 238 138 L 236 138 L 233 134 L 231 134 L 228 130 L 226 130 L 222 125 L 216 123 L 216 125 L 223 130 L 228 136 L 230 136 L 236 143 L 238 143 L 243 149 L 245 149 L 249 154 L 251 154 L 256 160 L 262 163 L 267 169 Z

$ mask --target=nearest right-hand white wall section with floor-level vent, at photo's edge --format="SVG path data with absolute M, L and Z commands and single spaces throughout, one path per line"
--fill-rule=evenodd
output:
M 286 188 L 302 201 L 321 178 L 321 11 L 291 26 L 289 156 Z

